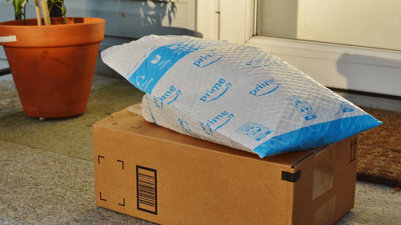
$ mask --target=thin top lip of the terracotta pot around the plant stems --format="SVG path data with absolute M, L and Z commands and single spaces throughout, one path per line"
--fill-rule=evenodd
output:
M 63 17 L 52 17 L 51 20 L 57 20 L 59 18 L 63 18 Z M 38 26 L 38 25 L 15 25 L 15 23 L 21 23 L 21 20 L 8 20 L 8 21 L 4 21 L 4 22 L 0 22 L 0 29 L 2 28 L 13 28 L 13 29 L 51 29 L 51 28 L 59 28 L 59 27 L 63 27 L 63 28 L 67 28 L 67 27 L 71 27 L 71 26 L 93 26 L 94 24 L 102 24 L 105 23 L 105 20 L 102 18 L 97 18 L 97 17 L 67 17 L 67 19 L 83 19 L 83 22 L 81 23 L 72 23 L 72 24 L 52 24 L 50 26 L 46 26 L 46 25 L 42 25 L 42 26 Z M 86 19 L 90 19 L 91 21 L 87 21 L 85 22 L 85 18 Z M 63 18 L 64 19 L 64 18 Z M 31 19 L 26 19 L 26 21 L 36 21 L 36 18 L 31 18 Z M 43 21 L 43 18 L 42 18 Z

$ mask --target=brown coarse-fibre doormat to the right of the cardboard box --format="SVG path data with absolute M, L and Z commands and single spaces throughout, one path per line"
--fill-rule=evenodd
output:
M 360 107 L 383 124 L 360 133 L 356 179 L 401 186 L 401 112 Z

